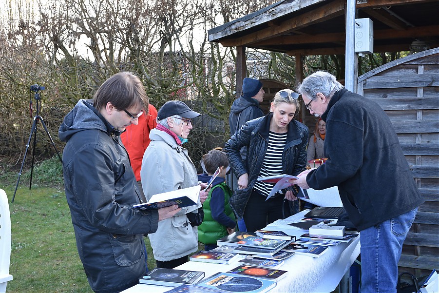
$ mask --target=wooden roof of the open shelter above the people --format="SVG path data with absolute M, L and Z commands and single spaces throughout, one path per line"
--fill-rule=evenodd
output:
M 288 55 L 344 54 L 345 0 L 283 0 L 208 31 L 223 46 Z M 374 22 L 374 52 L 409 51 L 415 40 L 439 47 L 437 0 L 357 0 Z

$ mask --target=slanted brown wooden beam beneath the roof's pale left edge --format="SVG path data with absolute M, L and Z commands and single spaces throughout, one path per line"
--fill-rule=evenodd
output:
M 336 0 L 312 11 L 298 15 L 295 18 L 285 20 L 278 26 L 270 26 L 266 29 L 259 30 L 254 33 L 247 34 L 236 39 L 219 40 L 225 46 L 248 46 L 249 44 L 281 36 L 293 30 L 300 29 L 311 24 L 326 21 L 344 14 L 344 1 Z

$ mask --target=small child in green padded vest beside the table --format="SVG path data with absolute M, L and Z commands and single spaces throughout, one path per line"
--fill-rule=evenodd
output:
M 198 226 L 198 241 L 204 244 L 205 250 L 211 250 L 217 247 L 216 240 L 235 232 L 236 219 L 229 204 L 232 194 L 225 182 L 229 166 L 227 155 L 220 150 L 213 149 L 203 156 L 203 161 L 207 174 L 198 175 L 198 180 L 201 182 L 209 182 L 216 169 L 220 169 L 203 203 L 204 220 Z

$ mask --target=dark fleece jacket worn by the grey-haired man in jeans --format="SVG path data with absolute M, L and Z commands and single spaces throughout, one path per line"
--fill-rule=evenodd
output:
M 338 186 L 359 231 L 424 202 L 393 125 L 377 103 L 343 89 L 330 99 L 322 119 L 328 160 L 306 181 L 317 190 Z

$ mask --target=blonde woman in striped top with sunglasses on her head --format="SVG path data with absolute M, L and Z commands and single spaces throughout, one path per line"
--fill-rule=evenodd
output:
M 294 119 L 299 113 L 299 95 L 289 89 L 279 91 L 270 113 L 246 122 L 226 143 L 226 154 L 238 177 L 238 190 L 230 204 L 239 219 L 244 217 L 248 232 L 299 211 L 297 198 L 284 190 L 267 199 L 274 184 L 256 182 L 258 177 L 298 175 L 305 170 L 308 127 Z M 239 151 L 248 148 L 247 160 Z M 267 199 L 267 201 L 266 201 Z M 284 203 L 288 207 L 284 208 Z

